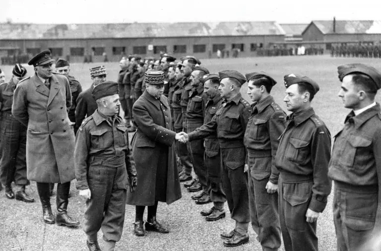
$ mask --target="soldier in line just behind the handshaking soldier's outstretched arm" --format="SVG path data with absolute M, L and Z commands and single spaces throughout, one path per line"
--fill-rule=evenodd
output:
M 218 91 L 220 80 L 218 74 L 206 74 L 200 81 L 204 86 L 204 94 L 208 97 L 204 115 L 204 124 L 207 124 L 222 106 L 222 97 Z M 224 203 L 226 201 L 226 195 L 221 184 L 221 153 L 217 134 L 212 133 L 206 137 L 204 144 L 204 165 L 207 173 L 208 194 L 213 206 L 209 210 L 202 210 L 200 213 L 205 216 L 207 221 L 216 221 L 225 218 Z

